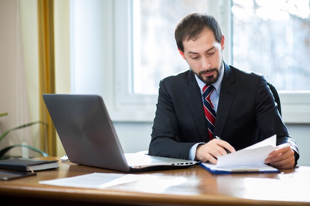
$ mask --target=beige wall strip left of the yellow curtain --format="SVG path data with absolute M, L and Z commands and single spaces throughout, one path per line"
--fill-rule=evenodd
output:
M 30 5 L 33 1 L 27 1 Z M 35 81 L 28 82 L 26 76 L 36 77 L 36 73 L 32 73 L 37 68 L 31 61 L 36 54 L 25 53 L 25 43 L 31 42 L 35 36 L 27 36 L 29 30 L 36 31 L 33 28 L 31 18 L 27 15 L 28 11 L 20 11 L 20 2 L 17 0 L 0 0 L 0 113 L 8 112 L 8 116 L 0 118 L 0 133 L 38 119 L 30 112 L 32 101 L 35 102 L 36 97 L 28 96 L 32 89 L 36 90 Z M 22 27 L 23 22 L 27 22 L 28 27 Z M 27 41 L 23 41 L 23 36 L 27 37 Z M 32 45 L 33 47 L 36 44 Z M 27 58 L 24 58 L 27 57 Z M 28 61 L 29 60 L 29 61 Z M 32 62 L 32 63 L 31 63 Z M 29 90 L 27 90 L 29 88 Z M 31 98 L 29 98 L 31 97 Z M 0 148 L 8 145 L 27 143 L 34 145 L 36 142 L 32 138 L 38 138 L 35 129 L 37 125 L 31 128 L 27 127 L 10 132 L 1 142 Z M 16 147 L 11 152 L 20 155 L 23 149 Z M 23 152 L 27 153 L 27 149 Z M 27 156 L 27 154 L 25 155 Z

